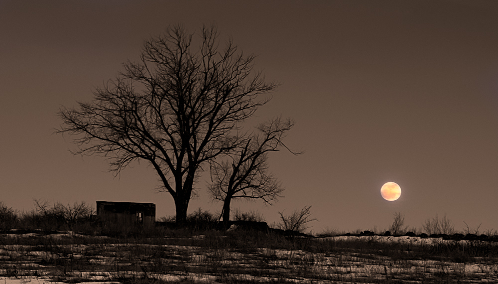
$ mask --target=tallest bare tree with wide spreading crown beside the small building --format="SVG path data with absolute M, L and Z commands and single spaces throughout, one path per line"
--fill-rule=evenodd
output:
M 268 102 L 272 91 L 229 40 L 220 48 L 216 28 L 204 27 L 198 48 L 193 33 L 175 26 L 144 45 L 138 63 L 95 92 L 92 103 L 63 108 L 59 133 L 77 136 L 74 154 L 107 157 L 119 174 L 130 162 L 145 160 L 169 192 L 176 221 L 184 222 L 202 165 L 238 143 L 237 130 Z M 195 193 L 195 192 L 194 192 Z

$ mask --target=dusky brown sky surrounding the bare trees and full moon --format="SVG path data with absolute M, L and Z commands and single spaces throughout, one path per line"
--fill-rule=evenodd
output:
M 386 230 L 395 212 L 410 228 L 446 214 L 457 230 L 498 229 L 497 14 L 491 0 L 0 0 L 0 200 L 152 202 L 173 215 L 146 163 L 114 177 L 103 157 L 72 155 L 57 112 L 90 102 L 168 26 L 215 24 L 280 84 L 250 123 L 292 118 L 285 142 L 305 152 L 271 153 L 286 188 L 273 206 L 233 209 L 273 223 L 311 205 L 316 233 Z M 388 181 L 396 201 L 380 195 Z M 189 212 L 220 212 L 197 187 Z

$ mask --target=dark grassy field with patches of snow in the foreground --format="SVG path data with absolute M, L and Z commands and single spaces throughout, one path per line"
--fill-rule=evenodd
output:
M 0 283 L 498 283 L 498 243 L 169 231 L 0 234 Z

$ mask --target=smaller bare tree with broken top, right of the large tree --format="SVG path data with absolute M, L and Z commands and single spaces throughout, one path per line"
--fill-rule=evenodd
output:
M 291 120 L 282 121 L 280 117 L 260 124 L 256 127 L 255 134 L 250 135 L 229 154 L 229 160 L 212 162 L 212 182 L 208 190 L 213 199 L 223 202 L 220 217 L 223 217 L 224 223 L 230 220 L 230 204 L 233 199 L 261 199 L 271 205 L 281 197 L 284 188 L 268 172 L 267 159 L 271 151 L 289 149 L 282 139 L 293 125 Z

